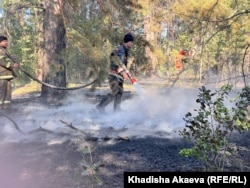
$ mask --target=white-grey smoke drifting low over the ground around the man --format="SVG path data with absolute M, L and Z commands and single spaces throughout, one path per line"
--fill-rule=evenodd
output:
M 183 117 L 195 108 L 196 90 L 190 89 L 143 89 L 136 84 L 133 97 L 122 102 L 124 111 L 113 112 L 113 103 L 106 107 L 106 115 L 95 109 L 96 103 L 85 97 L 88 91 L 72 91 L 60 107 L 48 107 L 41 103 L 16 104 L 18 113 L 11 118 L 23 132 L 42 127 L 56 133 L 74 135 L 63 122 L 73 125 L 95 137 L 176 137 L 184 127 Z M 109 90 L 107 90 L 109 92 Z M 92 94 L 94 95 L 94 93 Z M 0 117 L 1 134 L 5 141 L 28 139 L 19 134 L 13 123 Z M 52 139 L 48 135 L 43 139 Z

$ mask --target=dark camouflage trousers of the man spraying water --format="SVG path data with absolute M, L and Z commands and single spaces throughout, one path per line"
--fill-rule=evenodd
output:
M 104 109 L 110 102 L 114 100 L 114 111 L 120 111 L 123 95 L 123 82 L 119 81 L 117 77 L 110 75 L 109 87 L 111 92 L 107 94 L 97 106 Z

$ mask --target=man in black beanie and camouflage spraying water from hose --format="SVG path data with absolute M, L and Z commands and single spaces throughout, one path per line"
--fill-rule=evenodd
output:
M 110 70 L 108 75 L 111 93 L 106 95 L 96 108 L 105 113 L 105 107 L 114 100 L 114 111 L 121 111 L 121 100 L 123 95 L 123 83 L 128 79 L 127 58 L 129 49 L 133 46 L 134 38 L 128 33 L 124 36 L 124 43 L 114 50 L 110 55 Z

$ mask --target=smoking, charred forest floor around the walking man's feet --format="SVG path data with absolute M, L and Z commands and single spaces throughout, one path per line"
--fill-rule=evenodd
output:
M 95 105 L 108 88 L 69 92 L 60 105 L 44 104 L 38 96 L 14 99 L 16 110 L 0 116 L 0 187 L 91 187 L 88 177 L 81 176 L 78 146 L 86 144 L 93 163 L 104 164 L 97 174 L 102 188 L 123 187 L 124 171 L 201 170 L 197 161 L 179 155 L 187 145 L 177 138 L 185 124 L 182 118 L 197 108 L 198 89 L 142 89 L 138 93 L 125 88 L 124 112 L 113 113 L 111 103 L 106 115 Z M 86 134 L 93 142 L 78 141 Z M 241 140 L 244 163 L 232 164 L 244 171 L 249 166 L 249 136 Z

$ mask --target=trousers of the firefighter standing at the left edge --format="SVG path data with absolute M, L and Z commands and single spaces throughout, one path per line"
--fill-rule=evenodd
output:
M 11 103 L 11 81 L 0 79 L 0 109 L 9 108 Z

